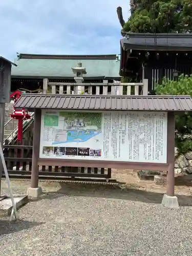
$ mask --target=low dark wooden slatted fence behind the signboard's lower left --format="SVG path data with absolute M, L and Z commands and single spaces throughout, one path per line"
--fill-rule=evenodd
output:
M 10 176 L 31 176 L 33 146 L 4 145 L 4 157 Z M 111 178 L 111 168 L 39 166 L 39 176 Z

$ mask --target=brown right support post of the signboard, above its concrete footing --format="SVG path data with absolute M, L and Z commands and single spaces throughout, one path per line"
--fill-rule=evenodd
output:
M 167 196 L 175 196 L 175 113 L 167 114 Z

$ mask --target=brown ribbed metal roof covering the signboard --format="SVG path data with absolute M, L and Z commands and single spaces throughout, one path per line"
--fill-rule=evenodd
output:
M 190 96 L 24 94 L 15 108 L 90 111 L 192 111 Z

